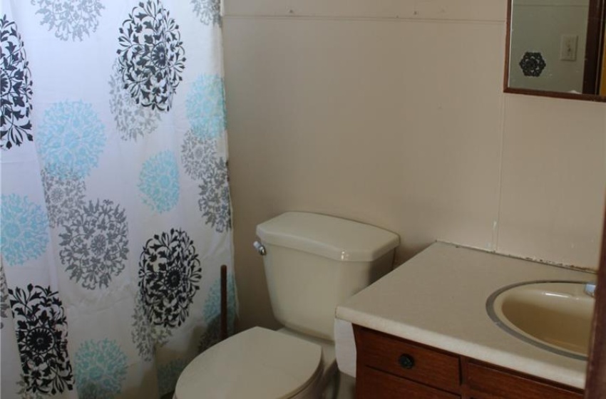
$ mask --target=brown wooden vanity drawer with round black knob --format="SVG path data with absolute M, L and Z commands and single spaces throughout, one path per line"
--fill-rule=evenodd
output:
M 401 338 L 356 326 L 358 365 L 458 393 L 459 358 Z

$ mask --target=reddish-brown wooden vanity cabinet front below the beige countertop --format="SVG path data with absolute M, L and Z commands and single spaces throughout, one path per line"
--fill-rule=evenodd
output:
M 582 399 L 582 390 L 354 325 L 356 399 Z

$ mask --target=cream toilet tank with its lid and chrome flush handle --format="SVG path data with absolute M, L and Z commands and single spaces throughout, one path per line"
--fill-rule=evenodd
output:
M 399 237 L 379 227 L 309 212 L 257 226 L 277 320 L 330 341 L 334 309 L 391 271 Z

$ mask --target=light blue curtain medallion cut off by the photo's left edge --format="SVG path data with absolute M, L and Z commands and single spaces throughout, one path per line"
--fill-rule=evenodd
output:
M 43 208 L 28 197 L 2 195 L 0 250 L 9 266 L 36 259 L 48 245 L 48 218 Z

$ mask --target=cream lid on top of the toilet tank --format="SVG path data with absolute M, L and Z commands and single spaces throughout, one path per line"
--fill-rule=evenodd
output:
M 266 244 L 337 261 L 374 261 L 399 245 L 397 234 L 359 222 L 311 212 L 286 212 L 257 226 Z

